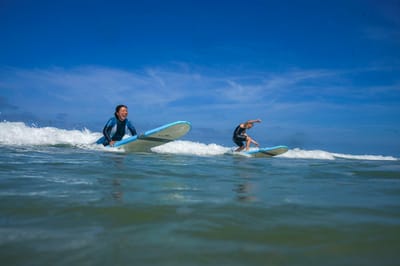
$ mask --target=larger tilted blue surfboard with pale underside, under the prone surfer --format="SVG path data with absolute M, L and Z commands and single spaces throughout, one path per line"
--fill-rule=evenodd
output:
M 176 121 L 155 129 L 148 130 L 141 135 L 131 136 L 115 142 L 114 147 L 126 152 L 150 152 L 151 148 L 160 146 L 186 135 L 192 125 L 187 121 Z M 102 143 L 100 138 L 97 143 Z

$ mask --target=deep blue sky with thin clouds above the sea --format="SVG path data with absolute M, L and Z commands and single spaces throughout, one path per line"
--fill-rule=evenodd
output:
M 400 154 L 400 1 L 0 1 L 0 119 Z

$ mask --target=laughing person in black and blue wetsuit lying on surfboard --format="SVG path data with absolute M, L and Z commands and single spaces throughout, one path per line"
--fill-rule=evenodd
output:
M 127 117 L 128 107 L 122 104 L 118 105 L 115 108 L 114 117 L 110 118 L 107 124 L 104 126 L 104 137 L 102 138 L 102 143 L 104 146 L 113 146 L 116 141 L 121 140 L 124 137 L 127 131 L 129 131 L 132 136 L 137 135 L 135 127 L 131 124 Z

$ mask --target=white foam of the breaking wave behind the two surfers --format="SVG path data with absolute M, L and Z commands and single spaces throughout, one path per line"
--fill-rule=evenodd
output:
M 102 145 L 93 144 L 102 136 L 100 132 L 83 130 L 65 130 L 55 127 L 27 126 L 21 122 L 0 122 L 0 145 L 35 146 L 35 145 L 71 145 L 84 149 L 107 150 L 121 152 L 117 148 L 104 148 Z M 205 144 L 201 142 L 177 140 L 152 149 L 155 153 L 181 154 L 194 156 L 219 156 L 233 154 L 233 147 L 224 147 L 215 143 Z M 331 153 L 323 150 L 290 149 L 288 152 L 278 155 L 281 158 L 335 160 L 399 160 L 392 156 L 383 155 L 352 155 Z

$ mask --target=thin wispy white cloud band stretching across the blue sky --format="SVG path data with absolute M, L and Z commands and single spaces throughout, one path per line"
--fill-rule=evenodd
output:
M 305 119 L 335 106 L 356 110 L 355 105 L 376 105 L 380 99 L 382 105 L 385 101 L 399 101 L 399 80 L 391 84 L 358 84 L 360 77 L 362 80 L 371 71 L 387 70 L 291 69 L 280 73 L 207 75 L 206 71 L 194 71 L 187 65 L 173 70 L 141 71 L 98 66 L 3 68 L 0 96 L 2 102 L 18 106 L 21 112 L 56 117 L 63 114 L 63 118 L 69 114 L 82 120 L 88 119 L 82 116 L 107 117 L 119 103 L 128 104 L 143 119 L 175 117 L 179 113 L 209 123 L 216 116 L 245 119 L 248 113 L 261 116 L 265 112 L 275 112 L 277 117 L 301 114 Z

